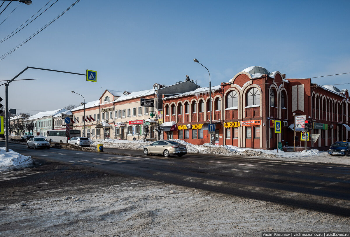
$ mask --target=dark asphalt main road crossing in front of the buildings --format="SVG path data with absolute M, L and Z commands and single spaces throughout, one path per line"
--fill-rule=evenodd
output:
M 0 142 L 1 146 L 5 146 Z M 106 174 L 123 174 L 208 191 L 249 197 L 350 216 L 350 166 L 187 154 L 182 158 L 144 156 L 141 150 L 101 152 L 9 148 L 44 159 Z

